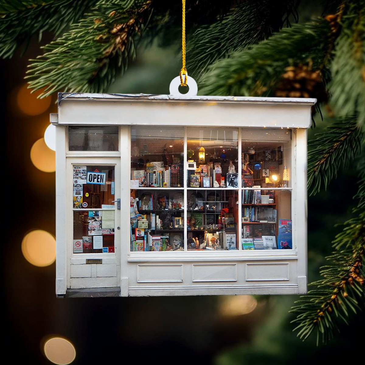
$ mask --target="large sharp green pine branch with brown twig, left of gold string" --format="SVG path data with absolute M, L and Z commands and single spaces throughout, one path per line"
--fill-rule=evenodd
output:
M 98 1 L 91 14 L 31 60 L 30 88 L 45 88 L 42 97 L 58 91 L 105 91 L 135 57 L 135 43 L 151 11 L 151 1 Z

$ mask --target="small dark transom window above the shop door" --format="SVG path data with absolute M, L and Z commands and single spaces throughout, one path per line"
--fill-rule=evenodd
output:
M 118 151 L 118 127 L 69 127 L 69 151 Z

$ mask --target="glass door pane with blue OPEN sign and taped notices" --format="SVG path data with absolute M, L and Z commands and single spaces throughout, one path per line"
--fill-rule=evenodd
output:
M 73 253 L 114 253 L 114 166 L 73 165 Z

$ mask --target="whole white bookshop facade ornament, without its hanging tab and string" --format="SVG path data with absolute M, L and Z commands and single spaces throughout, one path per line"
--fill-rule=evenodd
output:
M 306 293 L 315 101 L 59 94 L 57 295 Z

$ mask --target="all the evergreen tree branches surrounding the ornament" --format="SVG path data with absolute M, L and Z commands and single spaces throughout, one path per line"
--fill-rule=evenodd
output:
M 308 191 L 323 192 L 343 166 L 356 166 L 353 216 L 334 237 L 322 278 L 292 308 L 297 335 L 315 331 L 326 342 L 365 303 L 365 0 L 326 1 L 322 16 L 305 23 L 298 7 L 294 0 L 187 2 L 187 65 L 202 95 L 314 97 L 314 120 L 323 110 L 331 115 L 309 142 Z M 181 39 L 180 1 L 3 0 L 0 14 L 2 58 L 26 49 L 31 37 L 53 35 L 27 73 L 42 96 L 107 92 L 141 39 Z

